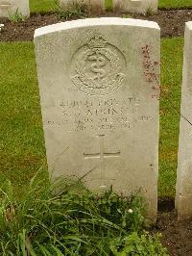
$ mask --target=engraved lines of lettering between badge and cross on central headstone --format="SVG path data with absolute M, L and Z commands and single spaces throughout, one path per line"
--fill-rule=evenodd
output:
M 153 116 L 138 115 L 137 97 L 60 101 L 57 115 L 45 120 L 46 126 L 62 126 L 65 131 L 129 130 L 138 121 L 152 121 Z

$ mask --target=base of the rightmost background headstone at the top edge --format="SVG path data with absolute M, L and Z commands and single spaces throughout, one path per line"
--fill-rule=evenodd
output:
M 114 10 L 132 13 L 156 13 L 158 0 L 113 0 Z

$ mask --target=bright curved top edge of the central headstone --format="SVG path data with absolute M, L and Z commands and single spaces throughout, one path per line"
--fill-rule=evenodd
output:
M 134 26 L 160 30 L 158 24 L 154 21 L 134 19 L 134 18 L 120 18 L 120 17 L 100 17 L 100 18 L 85 18 L 66 22 L 60 22 L 54 25 L 49 25 L 36 29 L 35 37 L 41 37 L 46 34 L 70 30 L 83 27 L 94 26 Z

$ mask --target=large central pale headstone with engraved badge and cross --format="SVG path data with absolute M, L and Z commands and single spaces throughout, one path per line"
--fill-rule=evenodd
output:
M 52 178 L 92 190 L 141 189 L 156 220 L 159 27 L 125 18 L 36 30 L 36 64 Z

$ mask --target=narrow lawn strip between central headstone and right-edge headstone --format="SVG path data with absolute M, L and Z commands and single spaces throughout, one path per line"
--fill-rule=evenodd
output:
M 160 196 L 175 195 L 183 38 L 161 40 L 159 184 Z M 171 103 L 170 103 L 171 102 Z M 173 106 L 172 106 L 173 105 Z

